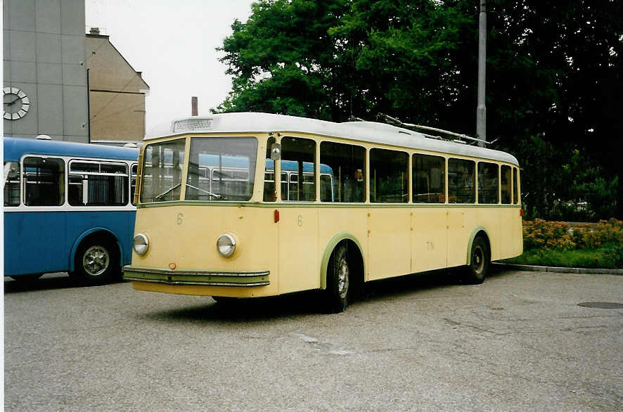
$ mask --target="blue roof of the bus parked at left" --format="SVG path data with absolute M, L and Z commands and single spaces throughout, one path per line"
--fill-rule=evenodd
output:
M 27 154 L 136 160 L 139 157 L 139 149 L 75 143 L 70 141 L 4 137 L 5 161 L 18 162 L 23 155 Z

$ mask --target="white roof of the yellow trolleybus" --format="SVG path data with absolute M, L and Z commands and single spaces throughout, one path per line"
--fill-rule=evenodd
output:
M 519 165 L 515 156 L 500 150 L 430 139 L 410 129 L 377 122 L 326 122 L 270 113 L 237 112 L 203 117 L 184 117 L 152 129 L 145 140 L 181 134 L 298 132 L 366 143 L 428 150 Z

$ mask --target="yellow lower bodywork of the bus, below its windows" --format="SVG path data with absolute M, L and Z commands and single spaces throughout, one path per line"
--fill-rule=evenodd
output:
M 366 281 L 469 264 L 471 243 L 480 231 L 489 238 L 492 260 L 522 253 L 519 207 L 184 203 L 188 202 L 137 210 L 136 233 L 147 234 L 150 248 L 144 257 L 134 253 L 132 266 L 171 273 L 268 271 L 269 285 L 134 281 L 135 289 L 259 297 L 323 288 L 323 256 L 333 251 L 328 246 L 337 233 L 357 240 Z M 217 252 L 217 239 L 223 233 L 236 238 L 236 252 L 229 258 Z

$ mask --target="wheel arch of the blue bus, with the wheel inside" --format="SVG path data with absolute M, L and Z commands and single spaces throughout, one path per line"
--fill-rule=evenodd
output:
M 122 250 L 113 233 L 93 229 L 84 233 L 72 247 L 70 276 L 90 285 L 110 283 L 121 278 Z

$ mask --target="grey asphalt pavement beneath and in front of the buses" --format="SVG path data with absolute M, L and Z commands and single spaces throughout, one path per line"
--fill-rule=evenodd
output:
M 4 287 L 6 411 L 623 410 L 623 276 L 443 271 L 342 314 L 316 293 Z

